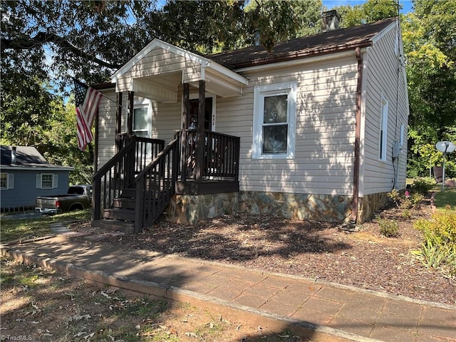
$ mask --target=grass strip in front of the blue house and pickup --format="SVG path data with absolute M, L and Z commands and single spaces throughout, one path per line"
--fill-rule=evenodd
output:
M 42 215 L 25 219 L 11 219 L 11 215 L 1 216 L 0 242 L 30 239 L 52 234 L 50 225 L 56 222 L 71 222 L 78 219 L 90 219 L 90 210 L 77 210 L 55 215 Z

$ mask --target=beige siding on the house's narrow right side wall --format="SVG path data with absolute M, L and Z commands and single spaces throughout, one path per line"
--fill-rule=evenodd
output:
M 400 125 L 408 123 L 408 108 L 405 78 L 397 73 L 398 57 L 395 56 L 395 31 L 391 29 L 375 41 L 364 59 L 363 82 L 366 83 L 364 98 L 366 112 L 363 113 L 363 168 L 361 170 L 361 196 L 393 189 L 397 165 L 393 165 L 393 143 L 400 140 Z M 380 160 L 380 113 L 381 101 L 388 100 L 388 130 L 386 160 Z M 398 104 L 400 108 L 398 108 Z M 362 129 L 363 130 L 363 129 Z M 405 162 L 407 142 L 400 152 L 398 167 L 398 187 L 405 187 Z

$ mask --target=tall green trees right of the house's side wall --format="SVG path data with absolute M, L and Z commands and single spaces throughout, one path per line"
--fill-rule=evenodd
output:
M 423 176 L 430 162 L 442 160 L 435 142 L 456 139 L 456 4 L 414 4 L 415 12 L 402 21 L 410 98 L 408 174 Z M 456 175 L 454 154 L 448 160 L 447 175 Z

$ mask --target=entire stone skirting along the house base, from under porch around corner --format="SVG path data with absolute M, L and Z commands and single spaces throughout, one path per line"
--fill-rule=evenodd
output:
M 182 224 L 197 224 L 202 219 L 244 212 L 268 214 L 287 219 L 348 222 L 351 196 L 285 194 L 242 191 L 210 195 L 175 195 L 162 219 Z M 366 222 L 375 210 L 388 201 L 387 193 L 359 199 L 358 223 Z

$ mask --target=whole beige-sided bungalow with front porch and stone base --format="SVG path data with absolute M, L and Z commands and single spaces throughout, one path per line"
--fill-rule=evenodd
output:
M 199 56 L 154 39 L 94 87 L 105 96 L 93 224 L 139 232 L 160 215 L 194 224 L 227 212 L 366 221 L 405 188 L 402 51 L 397 18 L 272 52 Z

